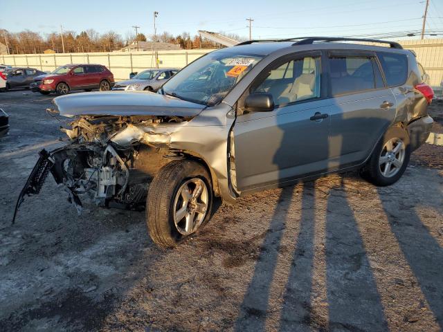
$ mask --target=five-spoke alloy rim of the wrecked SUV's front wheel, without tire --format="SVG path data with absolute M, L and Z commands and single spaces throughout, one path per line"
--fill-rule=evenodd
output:
M 208 186 L 201 178 L 191 178 L 179 187 L 174 198 L 174 224 L 183 235 L 195 232 L 208 212 Z

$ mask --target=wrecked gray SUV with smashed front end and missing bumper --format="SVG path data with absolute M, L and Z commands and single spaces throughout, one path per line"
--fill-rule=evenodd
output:
M 215 196 L 233 203 L 352 169 L 395 183 L 428 138 L 432 98 L 415 55 L 395 42 L 243 42 L 195 60 L 159 93 L 55 98 L 60 116 L 76 117 L 63 129 L 70 141 L 40 152 L 19 202 L 50 170 L 78 209 L 85 192 L 102 206 L 146 202 L 150 236 L 175 246 L 208 222 Z

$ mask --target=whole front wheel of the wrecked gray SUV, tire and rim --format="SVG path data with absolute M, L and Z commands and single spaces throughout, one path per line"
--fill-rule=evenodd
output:
M 206 168 L 194 160 L 172 161 L 156 174 L 147 194 L 146 222 L 152 241 L 173 247 L 210 219 L 213 188 Z

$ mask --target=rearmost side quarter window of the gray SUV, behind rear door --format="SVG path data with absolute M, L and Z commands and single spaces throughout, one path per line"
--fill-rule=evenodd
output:
M 388 86 L 404 84 L 408 78 L 408 57 L 404 54 L 377 52 Z

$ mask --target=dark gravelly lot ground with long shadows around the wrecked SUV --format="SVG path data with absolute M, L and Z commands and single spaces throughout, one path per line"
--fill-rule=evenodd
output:
M 0 139 L 2 331 L 443 329 L 442 147 L 417 150 L 390 187 L 351 173 L 221 205 L 197 237 L 162 250 L 143 212 L 86 200 L 77 216 L 51 178 L 10 225 L 37 151 L 62 144 L 51 99 L 0 94 L 11 124 Z

